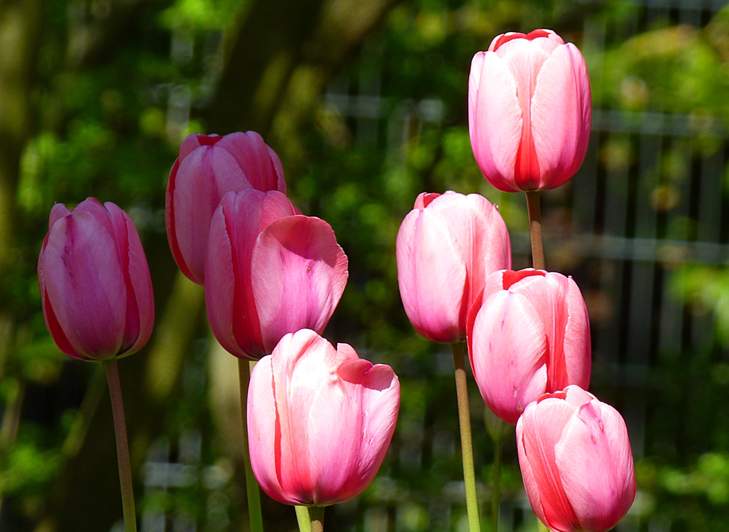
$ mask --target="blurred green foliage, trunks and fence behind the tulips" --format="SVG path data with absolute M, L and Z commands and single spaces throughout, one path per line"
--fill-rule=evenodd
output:
M 469 146 L 472 55 L 553 28 L 588 62 L 585 163 L 542 196 L 547 268 L 593 331 L 590 390 L 620 410 L 639 492 L 620 532 L 729 528 L 729 9 L 725 0 L 1 0 L 0 531 L 122 531 L 99 365 L 61 355 L 36 261 L 55 201 L 114 201 L 139 228 L 157 322 L 120 363 L 141 532 L 247 531 L 235 360 L 168 250 L 164 190 L 192 132 L 259 131 L 289 196 L 327 220 L 350 277 L 324 336 L 389 363 L 402 406 L 380 474 L 330 531 L 465 531 L 453 366 L 397 290 L 421 191 L 482 193 L 529 266 L 523 195 Z M 493 444 L 469 382 L 483 530 Z M 536 531 L 513 436 L 501 529 Z M 264 497 L 266 530 L 295 530 Z

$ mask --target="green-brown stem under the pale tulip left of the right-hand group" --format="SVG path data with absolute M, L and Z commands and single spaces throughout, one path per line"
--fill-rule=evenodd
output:
M 473 442 L 471 440 L 471 410 L 468 406 L 466 382 L 466 343 L 455 342 L 451 344 L 451 347 L 453 348 L 453 366 L 456 369 L 456 397 L 458 398 L 458 418 L 461 428 L 461 458 L 463 458 L 463 479 L 466 485 L 468 529 L 469 532 L 480 532 L 476 474 L 473 467 Z

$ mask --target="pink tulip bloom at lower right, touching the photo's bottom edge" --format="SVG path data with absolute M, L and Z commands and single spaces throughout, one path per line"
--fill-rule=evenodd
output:
M 578 386 L 545 394 L 516 425 L 529 502 L 555 532 L 604 532 L 633 504 L 636 479 L 623 417 Z

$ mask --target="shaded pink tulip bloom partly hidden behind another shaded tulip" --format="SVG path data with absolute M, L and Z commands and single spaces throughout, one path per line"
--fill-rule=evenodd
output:
M 165 225 L 175 262 L 202 285 L 213 212 L 230 190 L 286 193 L 278 155 L 255 131 L 187 136 L 167 182 Z

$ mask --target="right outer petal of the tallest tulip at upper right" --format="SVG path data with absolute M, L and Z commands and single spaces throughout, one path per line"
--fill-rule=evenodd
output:
M 542 65 L 531 99 L 540 189 L 561 185 L 580 168 L 590 138 L 591 104 L 585 59 L 572 43 L 558 46 Z

